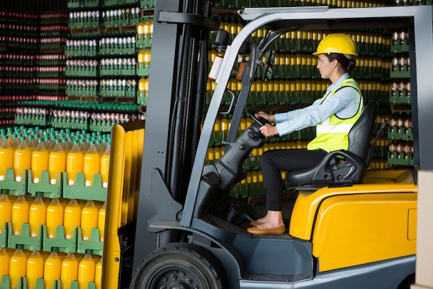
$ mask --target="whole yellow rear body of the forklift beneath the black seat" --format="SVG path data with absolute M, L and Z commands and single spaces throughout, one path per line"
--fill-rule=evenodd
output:
M 365 182 L 298 196 L 290 234 L 312 241 L 320 272 L 416 254 L 410 171 L 376 171 Z

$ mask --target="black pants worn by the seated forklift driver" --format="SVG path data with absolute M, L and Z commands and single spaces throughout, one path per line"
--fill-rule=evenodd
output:
M 281 211 L 283 198 L 282 171 L 311 168 L 326 156 L 324 150 L 267 150 L 260 165 L 266 189 L 266 210 Z

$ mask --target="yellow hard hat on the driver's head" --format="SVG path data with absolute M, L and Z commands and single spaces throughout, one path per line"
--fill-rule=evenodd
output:
M 329 53 L 358 56 L 355 41 L 352 37 L 343 33 L 333 33 L 324 37 L 324 39 L 320 40 L 319 45 L 317 45 L 317 51 L 313 55 Z

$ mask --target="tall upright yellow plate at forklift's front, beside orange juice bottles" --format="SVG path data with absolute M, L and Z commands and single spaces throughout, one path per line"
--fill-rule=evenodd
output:
M 145 121 L 133 121 L 113 126 L 110 186 L 107 193 L 107 213 L 104 231 L 104 289 L 117 289 L 120 272 L 120 241 L 118 229 L 136 218 L 140 191 L 142 150 Z

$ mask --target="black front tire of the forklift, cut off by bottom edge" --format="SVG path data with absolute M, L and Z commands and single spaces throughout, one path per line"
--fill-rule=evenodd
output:
M 203 247 L 171 243 L 152 252 L 138 270 L 133 289 L 223 289 L 225 273 Z

